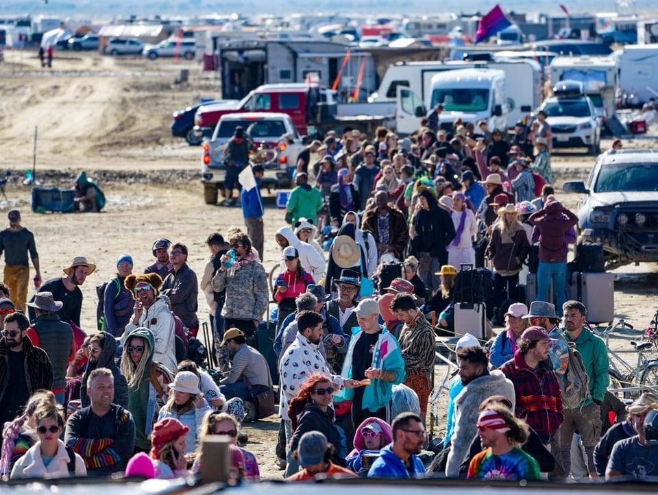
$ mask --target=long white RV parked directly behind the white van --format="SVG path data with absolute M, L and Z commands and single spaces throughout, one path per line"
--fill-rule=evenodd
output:
M 541 104 L 541 67 L 535 60 L 492 62 L 398 62 L 391 65 L 378 90 L 368 98 L 371 102 L 395 102 L 398 86 L 409 88 L 422 101 L 428 101 L 432 77 L 458 69 L 497 69 L 504 71 L 507 86 L 507 121 L 510 127 Z

